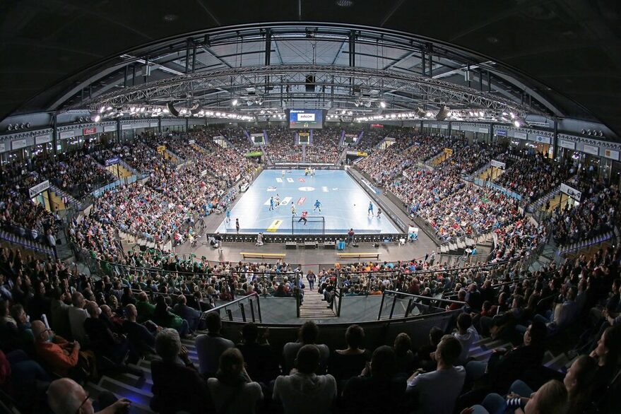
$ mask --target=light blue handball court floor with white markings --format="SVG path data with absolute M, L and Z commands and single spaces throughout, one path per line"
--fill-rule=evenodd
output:
M 270 197 L 280 198 L 280 206 L 270 211 Z M 313 211 L 315 201 L 321 202 L 321 213 Z M 368 194 L 343 170 L 317 170 L 314 177 L 305 176 L 304 170 L 264 170 L 231 210 L 230 223 L 226 219 L 218 232 L 234 233 L 235 219 L 239 218 L 240 233 L 265 232 L 278 234 L 346 233 L 353 227 L 357 234 L 398 233 L 384 212 L 377 218 L 374 203 L 373 216 L 368 214 Z M 291 223 L 291 203 L 295 203 L 295 220 Z M 298 223 L 302 211 L 308 211 L 308 223 Z M 293 230 L 293 232 L 292 232 Z

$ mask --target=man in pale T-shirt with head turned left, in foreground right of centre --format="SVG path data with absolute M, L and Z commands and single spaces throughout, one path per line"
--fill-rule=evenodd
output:
M 461 343 L 444 335 L 432 354 L 437 369 L 425 374 L 420 370 L 408 379 L 406 394 L 413 401 L 415 414 L 451 414 L 466 379 L 466 369 L 453 364 L 461 354 Z

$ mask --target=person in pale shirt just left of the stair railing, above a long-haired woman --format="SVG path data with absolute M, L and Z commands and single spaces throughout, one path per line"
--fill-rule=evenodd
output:
M 207 314 L 206 324 L 208 333 L 196 337 L 196 355 L 199 357 L 199 372 L 203 377 L 211 378 L 218 371 L 220 355 L 235 347 L 235 343 L 220 335 L 222 321 L 216 312 Z

